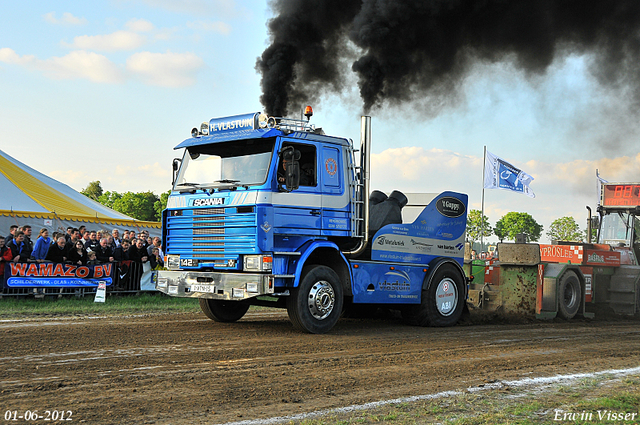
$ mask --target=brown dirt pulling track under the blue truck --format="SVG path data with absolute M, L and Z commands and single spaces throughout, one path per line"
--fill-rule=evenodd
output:
M 229 325 L 202 314 L 3 321 L 0 413 L 57 409 L 92 424 L 269 418 L 494 380 L 637 367 L 639 325 L 416 328 L 342 319 L 328 335 L 307 335 L 278 310 Z

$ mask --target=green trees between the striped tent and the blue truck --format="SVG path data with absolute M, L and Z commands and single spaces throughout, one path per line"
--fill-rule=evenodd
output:
M 97 180 L 90 182 L 80 193 L 136 220 L 161 221 L 162 210 L 167 207 L 167 200 L 171 191 L 168 190 L 161 193 L 160 196 L 151 191 L 137 193 L 105 192 L 100 181 Z

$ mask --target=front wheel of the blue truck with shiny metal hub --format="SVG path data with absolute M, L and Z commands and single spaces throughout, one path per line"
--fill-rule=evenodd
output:
M 287 313 L 293 326 L 304 332 L 321 334 L 334 327 L 343 304 L 338 275 L 326 266 L 309 266 L 302 280 L 287 298 Z

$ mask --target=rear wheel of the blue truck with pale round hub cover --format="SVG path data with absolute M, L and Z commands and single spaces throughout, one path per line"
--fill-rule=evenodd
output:
M 464 278 L 455 266 L 443 264 L 422 290 L 420 304 L 402 310 L 402 318 L 415 326 L 453 326 L 462 316 L 464 303 Z

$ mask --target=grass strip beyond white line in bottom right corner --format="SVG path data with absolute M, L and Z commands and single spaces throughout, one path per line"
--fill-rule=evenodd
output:
M 635 413 L 635 415 L 633 415 Z M 502 388 L 354 413 L 328 414 L 292 425 L 639 424 L 640 377 L 590 378 L 543 388 Z

